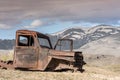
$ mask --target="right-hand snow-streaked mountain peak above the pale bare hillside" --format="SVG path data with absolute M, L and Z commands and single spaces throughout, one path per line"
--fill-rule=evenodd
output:
M 109 35 L 117 34 L 120 30 L 116 27 L 111 26 L 96 26 L 93 28 L 90 28 L 87 31 L 87 38 L 89 41 L 94 41 Z

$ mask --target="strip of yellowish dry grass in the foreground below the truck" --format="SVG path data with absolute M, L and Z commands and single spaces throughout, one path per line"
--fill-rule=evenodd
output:
M 114 71 L 85 66 L 85 72 L 40 72 L 0 69 L 0 80 L 120 80 Z

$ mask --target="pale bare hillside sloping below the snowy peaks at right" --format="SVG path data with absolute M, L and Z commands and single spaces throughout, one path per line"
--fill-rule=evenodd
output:
M 116 56 L 120 55 L 120 33 L 113 34 L 90 43 L 85 44 L 80 48 L 85 53 L 97 54 L 114 54 Z M 107 53 L 106 53 L 107 52 Z

